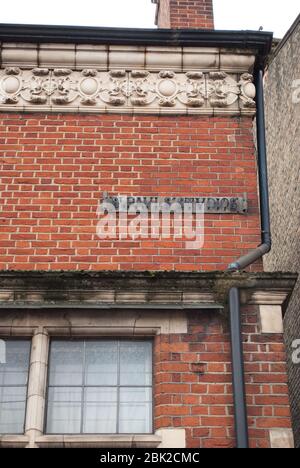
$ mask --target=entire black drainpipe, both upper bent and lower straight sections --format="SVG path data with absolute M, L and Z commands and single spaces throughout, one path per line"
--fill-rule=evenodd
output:
M 272 247 L 263 75 L 263 69 L 260 68 L 256 74 L 256 128 L 262 243 L 252 252 L 248 253 L 247 255 L 244 255 L 243 257 L 239 258 L 236 262 L 229 265 L 228 269 L 231 272 L 243 270 L 244 268 L 248 267 L 252 263 L 256 262 L 256 260 L 262 258 L 266 253 L 270 252 Z M 236 442 L 237 448 L 243 449 L 249 448 L 249 433 L 245 390 L 241 307 L 240 294 L 238 288 L 232 288 L 229 292 L 229 313 Z

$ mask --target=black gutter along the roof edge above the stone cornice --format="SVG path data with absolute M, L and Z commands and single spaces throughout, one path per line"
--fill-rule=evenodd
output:
M 2 42 L 248 48 L 257 50 L 262 57 L 270 52 L 272 38 L 272 33 L 264 31 L 0 24 Z

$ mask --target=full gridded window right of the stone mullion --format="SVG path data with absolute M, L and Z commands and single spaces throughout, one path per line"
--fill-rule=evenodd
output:
M 54 341 L 49 366 L 48 434 L 152 432 L 151 342 Z

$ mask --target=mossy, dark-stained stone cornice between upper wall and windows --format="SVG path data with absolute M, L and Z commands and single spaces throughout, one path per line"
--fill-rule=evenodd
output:
M 283 273 L 0 272 L 0 308 L 223 308 L 231 287 L 244 304 L 283 305 L 297 280 Z

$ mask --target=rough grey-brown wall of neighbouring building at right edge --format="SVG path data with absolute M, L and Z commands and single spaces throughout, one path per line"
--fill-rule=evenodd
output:
M 275 50 L 266 78 L 267 141 L 274 245 L 267 270 L 299 272 L 299 51 L 300 17 Z M 285 315 L 290 392 L 296 444 L 300 446 L 300 365 L 293 362 L 300 339 L 300 285 Z M 293 344 L 295 346 L 293 347 Z

